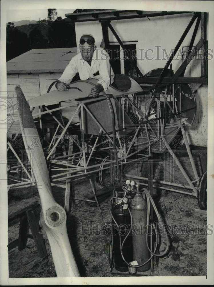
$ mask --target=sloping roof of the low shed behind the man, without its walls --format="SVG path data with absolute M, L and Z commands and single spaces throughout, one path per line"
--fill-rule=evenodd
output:
M 32 49 L 7 62 L 7 74 L 63 72 L 77 48 Z

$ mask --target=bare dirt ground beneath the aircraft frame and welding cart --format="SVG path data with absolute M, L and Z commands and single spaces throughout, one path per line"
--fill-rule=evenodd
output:
M 194 159 L 200 174 L 198 157 L 195 156 Z M 189 158 L 185 154 L 181 154 L 179 160 L 185 166 L 185 169 L 192 174 Z M 166 159 L 165 163 L 163 168 L 161 162 L 158 162 L 156 176 L 159 175 L 162 179 L 164 177 L 165 180 L 169 180 L 168 177 L 174 177 L 177 183 L 186 183 L 177 166 L 175 166 L 173 172 L 169 171 L 172 170 L 169 168 L 171 165 L 170 159 Z M 168 171 L 167 167 L 169 168 Z M 140 175 L 136 165 L 132 166 L 129 173 Z M 97 183 L 96 187 L 99 188 Z M 88 179 L 75 182 L 75 197 L 86 198 L 89 193 L 92 194 Z M 53 194 L 56 201 L 63 206 L 64 190 L 53 187 Z M 110 273 L 108 262 L 108 243 L 111 236 L 110 234 L 100 234 L 101 224 L 111 223 L 108 208 L 109 199 L 110 197 L 101 202 L 101 213 L 96 206 L 89 206 L 84 201 L 76 201 L 76 210 L 72 206 L 67 215 L 68 236 L 81 276 L 118 276 Z M 169 252 L 165 257 L 155 260 L 153 276 L 206 275 L 207 218 L 195 212 L 195 209 L 199 209 L 196 197 L 156 189 L 154 190 L 154 201 L 161 219 L 168 228 L 171 227 L 171 232 L 169 235 Z M 35 202 L 40 203 L 39 194 L 35 188 L 10 190 L 8 213 L 11 214 Z M 39 209 L 36 210 L 35 215 L 39 222 Z M 87 227 L 90 224 L 92 228 L 89 230 Z M 16 221 L 8 228 L 8 241 L 11 242 L 16 239 L 18 234 L 19 222 Z M 166 247 L 164 237 L 162 236 L 161 239 L 160 252 Z M 32 239 L 28 239 L 27 248 L 23 251 L 18 251 L 18 247 L 9 251 L 10 278 L 56 277 L 49 243 L 44 232 L 43 238 L 47 249 L 47 258 L 39 258 Z

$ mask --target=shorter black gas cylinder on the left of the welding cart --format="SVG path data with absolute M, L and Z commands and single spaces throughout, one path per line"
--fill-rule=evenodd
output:
M 125 263 L 125 261 L 122 258 L 121 251 L 120 251 L 120 237 L 121 235 L 121 244 L 123 243 L 123 240 L 127 233 L 130 230 L 130 224 L 131 224 L 131 216 L 129 214 L 128 210 L 124 210 L 121 207 L 114 208 L 112 211 L 113 217 L 120 228 L 118 228 L 114 222 L 113 223 L 113 251 L 114 251 L 114 261 L 115 261 L 115 269 L 120 272 L 126 272 L 128 271 L 128 265 Z M 123 244 L 123 256 L 127 262 L 132 261 L 133 255 L 132 255 L 132 236 L 129 235 L 124 244 Z

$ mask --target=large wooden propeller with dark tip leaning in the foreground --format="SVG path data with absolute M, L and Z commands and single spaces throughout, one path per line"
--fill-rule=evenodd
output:
M 31 170 L 41 200 L 41 224 L 47 234 L 57 277 L 79 277 L 66 227 L 66 212 L 54 200 L 47 164 L 29 105 L 19 87 L 17 94 L 18 117 Z

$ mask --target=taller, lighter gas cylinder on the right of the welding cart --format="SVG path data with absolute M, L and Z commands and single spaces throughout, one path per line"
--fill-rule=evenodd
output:
M 133 245 L 133 260 L 136 260 L 138 265 L 143 264 L 150 258 L 150 252 L 146 245 L 146 225 L 147 225 L 147 203 L 141 193 L 137 193 L 130 204 L 132 215 L 132 245 Z M 148 237 L 149 242 L 149 237 Z M 151 267 L 151 261 L 137 268 L 137 271 L 145 272 Z

